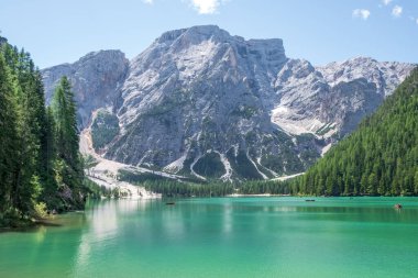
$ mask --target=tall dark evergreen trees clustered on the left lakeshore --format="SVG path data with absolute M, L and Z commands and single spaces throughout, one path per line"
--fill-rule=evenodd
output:
M 76 104 L 66 78 L 45 107 L 30 54 L 0 40 L 0 226 L 84 207 Z

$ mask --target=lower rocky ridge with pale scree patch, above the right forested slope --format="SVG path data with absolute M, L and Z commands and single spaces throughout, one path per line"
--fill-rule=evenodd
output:
M 289 59 L 275 81 L 272 122 L 292 134 L 328 138 L 353 131 L 409 75 L 415 65 L 353 58 L 314 67 Z

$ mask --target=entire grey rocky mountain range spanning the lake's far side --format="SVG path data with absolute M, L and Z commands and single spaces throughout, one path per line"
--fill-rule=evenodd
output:
M 107 158 L 229 180 L 304 171 L 413 68 L 362 57 L 315 67 L 287 58 L 282 40 L 206 25 L 166 32 L 131 62 L 98 52 L 43 75 L 48 98 L 70 78 L 79 125 L 107 134 L 96 149 Z

